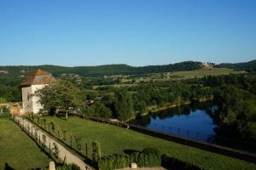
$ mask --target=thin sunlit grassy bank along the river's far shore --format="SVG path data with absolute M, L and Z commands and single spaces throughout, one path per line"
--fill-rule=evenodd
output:
M 213 99 L 213 95 L 210 98 L 197 99 L 196 101 L 199 102 L 199 103 L 202 103 L 202 102 L 210 101 L 212 99 Z M 149 113 L 155 113 L 155 112 L 158 112 L 158 111 L 164 111 L 166 109 L 180 107 L 180 106 L 183 106 L 183 105 L 190 105 L 191 103 L 192 102 L 189 100 L 189 101 L 184 101 L 183 103 L 180 103 L 180 104 L 169 103 L 169 104 L 166 104 L 166 105 L 163 105 L 163 106 L 151 105 L 151 106 L 148 106 L 147 111 L 145 111 L 143 114 L 141 114 L 141 116 L 146 116 Z M 133 116 L 133 117 L 127 119 L 125 122 L 130 122 L 130 121 L 132 121 L 134 119 L 136 119 L 136 116 Z

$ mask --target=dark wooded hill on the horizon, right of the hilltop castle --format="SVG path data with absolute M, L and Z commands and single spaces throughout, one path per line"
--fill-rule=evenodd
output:
M 256 71 L 256 59 L 249 61 L 249 62 L 243 62 L 243 63 L 222 63 L 219 65 L 215 65 L 219 68 L 230 68 L 234 70 L 241 70 L 241 71 Z

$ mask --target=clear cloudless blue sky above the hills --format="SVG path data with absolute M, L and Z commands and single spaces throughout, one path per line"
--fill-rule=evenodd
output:
M 256 59 L 256 0 L 0 0 L 0 65 Z

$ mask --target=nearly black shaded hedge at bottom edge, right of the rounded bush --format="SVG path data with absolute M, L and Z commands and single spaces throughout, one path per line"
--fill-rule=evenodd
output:
M 182 161 L 177 158 L 163 155 L 161 156 L 161 166 L 167 169 L 183 169 L 183 170 L 202 170 L 202 167 L 197 167 L 187 161 Z

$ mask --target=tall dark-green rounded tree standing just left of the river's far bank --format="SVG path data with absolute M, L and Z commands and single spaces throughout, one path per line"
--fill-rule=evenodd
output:
M 116 91 L 114 108 L 117 118 L 121 121 L 125 121 L 134 116 L 131 94 L 128 94 L 126 90 Z

